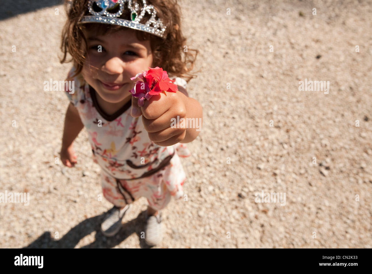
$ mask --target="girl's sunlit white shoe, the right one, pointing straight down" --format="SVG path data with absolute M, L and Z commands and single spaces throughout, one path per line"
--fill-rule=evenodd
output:
M 158 245 L 163 239 L 163 227 L 161 225 L 161 221 L 163 220 L 163 218 L 161 217 L 161 211 L 159 210 L 156 216 L 148 216 L 146 211 L 145 216 L 145 242 L 149 246 Z

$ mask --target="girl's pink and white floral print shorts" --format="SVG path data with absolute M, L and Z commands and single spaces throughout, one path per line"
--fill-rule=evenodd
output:
M 161 210 L 174 199 L 183 197 L 183 183 L 186 174 L 177 153 L 170 164 L 151 176 L 120 180 L 101 170 L 103 196 L 117 207 L 125 207 L 140 197 L 146 197 L 148 204 L 155 210 Z

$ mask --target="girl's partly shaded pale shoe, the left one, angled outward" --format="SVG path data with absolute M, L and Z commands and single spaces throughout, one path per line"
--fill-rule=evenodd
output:
M 114 236 L 121 228 L 121 221 L 126 212 L 132 208 L 132 204 L 126 205 L 122 210 L 114 206 L 105 215 L 101 224 L 101 231 L 107 237 Z

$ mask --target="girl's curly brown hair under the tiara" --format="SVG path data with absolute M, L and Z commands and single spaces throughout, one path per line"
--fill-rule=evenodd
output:
M 83 32 L 84 30 L 89 31 L 94 29 L 97 35 L 103 35 L 119 31 L 123 28 L 122 26 L 103 23 L 78 24 L 83 16 L 89 15 L 87 9 L 88 1 L 65 0 L 64 3 L 67 12 L 67 21 L 62 30 L 61 51 L 63 57 L 60 59 L 60 62 L 61 64 L 73 62 L 76 72 L 72 77 L 81 72 L 86 59 L 87 40 Z M 142 1 L 137 2 L 142 7 Z M 147 4 L 154 6 L 158 18 L 166 26 L 166 36 L 160 38 L 148 32 L 135 30 L 137 39 L 139 41 L 150 40 L 153 63 L 158 67 L 162 67 L 168 74 L 185 78 L 186 82 L 196 78 L 196 74 L 190 73 L 190 71 L 194 67 L 199 51 L 190 48 L 187 48 L 186 52 L 184 51 L 186 38 L 182 35 L 181 31 L 181 13 L 177 0 L 147 0 Z M 130 20 L 130 13 L 128 9 L 124 9 L 120 18 Z M 148 19 L 150 19 L 150 15 L 146 13 L 140 23 L 146 23 Z M 85 49 L 82 46 L 82 42 L 85 44 Z M 72 56 L 71 60 L 66 60 L 67 53 Z

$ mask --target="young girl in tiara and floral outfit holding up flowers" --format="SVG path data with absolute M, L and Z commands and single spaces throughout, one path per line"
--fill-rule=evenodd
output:
M 131 203 L 144 196 L 149 204 L 145 240 L 157 245 L 161 210 L 171 196 L 183 196 L 186 175 L 179 157 L 190 155 L 185 143 L 200 132 L 171 126 L 177 116 L 202 119 L 201 105 L 185 89 L 195 77 L 190 70 L 198 51 L 184 52 L 186 39 L 173 0 L 72 0 L 65 6 L 61 63 L 71 54 L 67 81 L 74 81 L 74 90 L 65 87 L 71 103 L 61 160 L 68 167 L 77 163 L 73 141 L 85 127 L 93 160 L 101 167 L 103 195 L 114 205 L 102 222 L 103 234 L 115 235 Z M 154 95 L 139 107 L 129 92 L 135 84 L 131 78 L 157 66 L 179 91 Z

